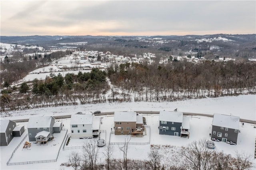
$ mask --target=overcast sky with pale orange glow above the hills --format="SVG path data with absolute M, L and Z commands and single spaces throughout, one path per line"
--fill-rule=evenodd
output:
M 1 36 L 255 34 L 256 1 L 1 0 Z

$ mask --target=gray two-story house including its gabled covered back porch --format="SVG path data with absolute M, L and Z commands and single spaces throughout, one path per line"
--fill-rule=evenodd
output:
M 53 135 L 53 125 L 55 119 L 50 116 L 30 117 L 28 120 L 28 138 L 29 141 L 47 141 Z M 36 139 L 38 138 L 38 139 Z

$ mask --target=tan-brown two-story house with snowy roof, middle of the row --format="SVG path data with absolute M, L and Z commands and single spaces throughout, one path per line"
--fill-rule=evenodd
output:
M 143 129 L 142 116 L 136 112 L 115 112 L 114 113 L 114 130 L 115 134 L 142 134 Z

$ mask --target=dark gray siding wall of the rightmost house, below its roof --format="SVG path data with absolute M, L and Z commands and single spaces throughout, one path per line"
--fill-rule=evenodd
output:
M 215 131 L 216 134 L 213 134 L 213 131 Z M 222 133 L 222 137 L 218 137 L 218 132 Z M 225 133 L 228 134 L 227 137 L 225 137 Z M 237 137 L 238 137 L 238 132 L 235 132 L 235 129 L 228 128 L 228 131 L 226 131 L 225 127 L 224 127 L 224 129 L 221 129 L 221 127 L 212 125 L 212 138 L 219 139 L 220 141 L 222 141 L 222 138 L 226 138 L 227 141 L 229 141 L 229 142 L 232 141 L 232 142 L 236 143 Z

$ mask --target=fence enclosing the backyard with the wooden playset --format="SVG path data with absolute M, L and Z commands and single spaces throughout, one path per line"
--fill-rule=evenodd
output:
M 67 133 L 68 133 L 68 129 L 66 128 L 62 128 L 62 130 L 65 130 L 66 131 L 66 134 L 64 136 L 64 139 L 66 138 L 67 136 Z M 25 140 L 25 138 L 28 136 L 28 134 L 26 134 L 26 136 L 22 139 L 22 141 L 20 142 L 20 144 Z M 61 145 L 60 145 L 60 148 L 63 144 L 64 140 L 62 141 Z M 18 144 L 18 146 L 15 148 L 15 150 L 12 152 L 12 156 L 14 154 L 14 152 L 18 149 L 18 147 L 20 146 L 20 144 Z M 58 156 L 59 156 L 59 153 L 60 153 L 60 148 L 59 148 L 59 151 L 58 151 L 58 155 L 56 157 L 56 159 L 52 159 L 52 160 L 35 160 L 35 161 L 27 161 L 27 162 L 13 162 L 13 163 L 10 163 L 10 160 L 12 158 L 12 156 L 10 157 L 10 159 L 8 160 L 8 162 L 6 163 L 7 165 L 25 165 L 25 164 L 38 164 L 38 163 L 48 163 L 48 162 L 56 162 L 57 159 L 58 159 Z

